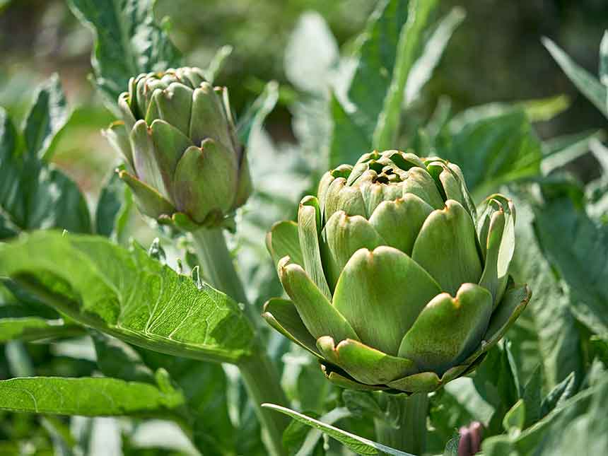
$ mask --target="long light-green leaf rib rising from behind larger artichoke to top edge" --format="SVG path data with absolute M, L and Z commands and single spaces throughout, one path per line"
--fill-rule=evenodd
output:
M 401 111 L 407 79 L 419 53 L 422 34 L 428 17 L 437 5 L 436 0 L 410 0 L 407 22 L 403 26 L 397 44 L 392 81 L 387 88 L 382 111 L 373 133 L 373 146 L 379 150 L 394 147 L 399 135 Z

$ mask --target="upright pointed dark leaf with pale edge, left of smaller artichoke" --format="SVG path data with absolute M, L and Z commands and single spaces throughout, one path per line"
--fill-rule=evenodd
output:
M 53 74 L 37 89 L 34 103 L 25 118 L 23 136 L 27 152 L 49 161 L 59 131 L 62 131 L 70 115 L 59 76 Z

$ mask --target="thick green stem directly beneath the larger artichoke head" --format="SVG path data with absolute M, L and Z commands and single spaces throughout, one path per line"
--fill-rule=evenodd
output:
M 399 394 L 390 398 L 390 415 L 385 419 L 375 418 L 374 427 L 378 442 L 396 450 L 422 455 L 426 450 L 426 415 L 428 395 Z

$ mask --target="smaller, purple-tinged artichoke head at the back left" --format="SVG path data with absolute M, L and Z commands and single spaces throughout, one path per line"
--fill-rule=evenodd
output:
M 251 180 L 228 90 L 197 68 L 140 74 L 119 96 L 122 122 L 105 131 L 139 210 L 160 222 L 220 226 L 245 204 Z

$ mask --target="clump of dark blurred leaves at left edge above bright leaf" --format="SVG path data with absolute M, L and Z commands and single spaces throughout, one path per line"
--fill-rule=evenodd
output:
M 47 163 L 68 115 L 57 76 L 38 90 L 23 134 L 0 107 L 0 239 L 37 228 L 90 233 L 80 190 Z

